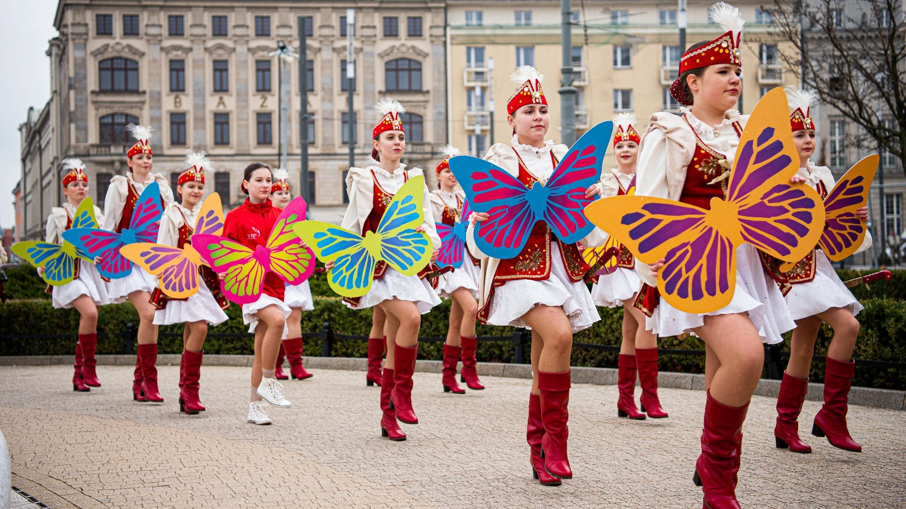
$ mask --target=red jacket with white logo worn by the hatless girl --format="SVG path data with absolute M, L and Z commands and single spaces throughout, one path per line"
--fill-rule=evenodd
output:
M 271 200 L 262 203 L 245 203 L 230 210 L 224 220 L 224 236 L 241 245 L 255 249 L 267 244 L 267 237 L 283 209 L 273 206 Z M 265 274 L 265 295 L 284 300 L 284 281 L 277 274 Z

